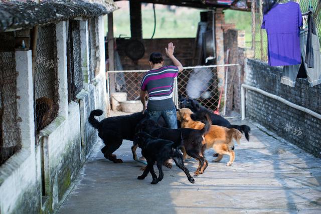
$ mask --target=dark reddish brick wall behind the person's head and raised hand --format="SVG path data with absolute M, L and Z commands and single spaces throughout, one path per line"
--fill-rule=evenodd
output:
M 175 45 L 175 56 L 181 61 L 183 66 L 191 66 L 193 59 L 194 38 L 171 38 L 171 39 L 143 39 L 141 42 L 145 47 L 145 55 L 142 59 L 134 62 L 126 56 L 124 48 L 128 40 L 116 40 L 118 54 L 121 59 L 123 70 L 150 69 L 149 55 L 152 52 L 161 52 L 166 65 L 173 65 L 172 61 L 166 56 L 165 48 L 170 42 Z

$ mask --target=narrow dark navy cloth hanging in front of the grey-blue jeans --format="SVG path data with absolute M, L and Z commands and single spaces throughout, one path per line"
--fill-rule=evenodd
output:
M 308 9 L 309 15 L 307 17 L 307 41 L 306 41 L 306 51 L 305 51 L 305 60 L 304 62 L 307 64 L 307 67 L 314 68 L 314 56 L 313 56 L 313 46 L 312 46 L 312 34 L 316 35 L 315 24 L 313 20 L 313 8 L 309 7 Z

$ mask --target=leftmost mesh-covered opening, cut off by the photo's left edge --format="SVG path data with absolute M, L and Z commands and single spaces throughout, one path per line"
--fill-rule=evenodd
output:
M 9 35 L 9 36 L 8 36 Z M 17 152 L 21 144 L 17 109 L 17 76 L 14 36 L 0 34 L 0 165 Z

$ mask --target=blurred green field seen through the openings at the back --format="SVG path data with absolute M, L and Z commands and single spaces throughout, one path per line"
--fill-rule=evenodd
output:
M 129 4 L 128 4 L 129 5 Z M 129 9 L 123 8 L 113 13 L 114 37 L 130 37 Z M 200 22 L 201 10 L 177 8 L 175 12 L 156 5 L 156 30 L 153 38 L 195 38 Z M 251 13 L 226 10 L 225 22 L 235 23 L 236 28 L 245 30 L 246 42 L 251 42 Z M 149 39 L 154 28 L 154 17 L 151 7 L 142 6 L 143 38 Z M 107 16 L 105 17 L 105 33 L 107 33 Z

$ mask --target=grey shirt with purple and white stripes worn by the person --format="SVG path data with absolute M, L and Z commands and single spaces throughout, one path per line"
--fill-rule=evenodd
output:
M 148 110 L 163 111 L 175 108 L 172 97 L 174 79 L 178 72 L 176 66 L 163 66 L 145 74 L 140 88 L 148 92 Z

